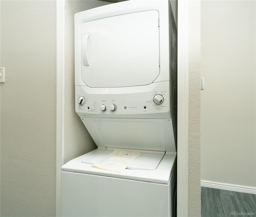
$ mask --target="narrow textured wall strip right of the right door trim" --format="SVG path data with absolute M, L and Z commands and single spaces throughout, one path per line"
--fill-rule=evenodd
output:
M 200 216 L 200 1 L 189 1 L 188 21 L 188 216 Z

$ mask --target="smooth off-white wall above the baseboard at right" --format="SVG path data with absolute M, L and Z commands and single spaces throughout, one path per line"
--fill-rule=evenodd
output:
M 256 187 L 255 1 L 202 1 L 201 179 Z

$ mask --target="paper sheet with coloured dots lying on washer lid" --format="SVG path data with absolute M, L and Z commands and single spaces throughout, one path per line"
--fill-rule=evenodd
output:
M 112 172 L 122 172 L 132 161 L 134 161 L 140 155 L 140 152 L 131 152 L 116 149 L 106 158 L 93 164 L 92 167 Z

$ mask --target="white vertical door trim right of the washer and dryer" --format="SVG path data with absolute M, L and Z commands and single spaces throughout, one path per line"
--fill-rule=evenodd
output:
M 188 1 L 178 0 L 178 217 L 188 216 Z

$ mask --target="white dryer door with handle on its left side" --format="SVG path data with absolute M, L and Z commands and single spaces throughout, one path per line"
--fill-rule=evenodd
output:
M 85 22 L 81 26 L 81 73 L 89 87 L 148 85 L 158 77 L 158 11 Z

